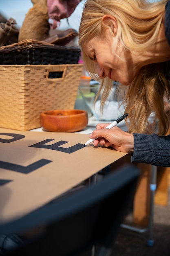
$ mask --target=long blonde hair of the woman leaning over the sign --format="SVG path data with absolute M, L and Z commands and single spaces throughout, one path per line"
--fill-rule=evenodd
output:
M 94 37 L 104 36 L 102 17 L 106 14 L 116 18 L 119 41 L 124 49 L 138 52 L 152 45 L 159 33 L 165 4 L 168 0 L 148 2 L 147 0 L 86 0 L 79 26 L 79 45 L 82 47 Z M 104 87 L 102 106 L 112 87 L 108 78 L 99 79 L 96 65 L 83 52 L 85 68 L 91 77 Z M 139 74 L 128 86 L 121 86 L 125 112 L 128 112 L 129 132 L 157 133 L 168 132 L 170 114 L 165 106 L 169 104 L 170 84 L 168 83 L 169 62 L 155 63 L 141 68 Z M 152 115 L 153 114 L 153 115 Z M 149 117 L 152 115 L 152 119 Z M 152 120 L 151 122 L 149 120 Z M 158 122 L 159 121 L 159 122 Z

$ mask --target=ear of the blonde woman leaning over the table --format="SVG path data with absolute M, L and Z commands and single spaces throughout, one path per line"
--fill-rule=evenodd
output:
M 108 29 L 112 30 L 113 36 L 117 35 L 117 20 L 115 17 L 111 16 L 111 15 L 104 15 L 102 17 L 102 25 Z

